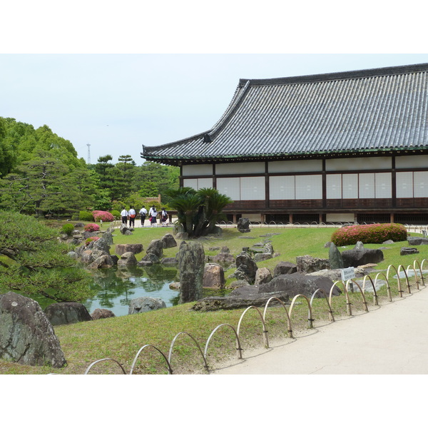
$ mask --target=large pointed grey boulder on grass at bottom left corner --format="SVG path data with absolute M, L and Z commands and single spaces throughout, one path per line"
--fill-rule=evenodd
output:
M 51 322 L 29 297 L 0 295 L 0 358 L 31 366 L 66 364 Z

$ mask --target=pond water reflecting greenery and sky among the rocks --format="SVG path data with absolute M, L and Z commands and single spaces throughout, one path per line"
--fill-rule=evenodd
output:
M 98 270 L 93 275 L 93 290 L 96 295 L 85 302 L 88 312 L 97 308 L 111 310 L 116 317 L 128 315 L 128 307 L 136 297 L 156 297 L 167 307 L 177 305 L 180 293 L 170 290 L 170 283 L 177 281 L 178 271 L 161 265 L 148 267 L 129 267 L 119 270 L 116 267 Z

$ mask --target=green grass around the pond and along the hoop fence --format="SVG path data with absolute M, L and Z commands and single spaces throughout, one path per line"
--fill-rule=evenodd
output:
M 103 228 L 107 228 L 106 225 Z M 236 229 L 225 229 L 220 237 L 204 238 L 205 254 L 215 255 L 223 245 L 228 246 L 233 255 L 240 253 L 243 247 L 250 247 L 254 243 L 270 240 L 275 253 L 279 255 L 270 260 L 258 263 L 258 267 L 268 267 L 273 270 L 280 261 L 295 263 L 297 255 L 312 255 L 313 257 L 328 258 L 328 248 L 324 245 L 330 241 L 332 228 L 298 228 L 298 229 L 274 229 L 255 228 L 248 234 L 240 234 Z M 121 235 L 118 233 L 114 243 L 142 243 L 144 248 L 153 239 L 161 238 L 165 233 L 171 233 L 171 228 L 136 228 L 133 235 Z M 180 241 L 178 241 L 178 246 Z M 422 245 L 419 254 L 414 256 L 400 256 L 399 249 L 407 246 L 407 242 L 391 245 L 366 245 L 367 248 L 387 247 L 383 249 L 385 260 L 379 263 L 379 269 L 387 269 L 388 265 L 404 265 L 407 267 L 413 260 L 422 262 L 428 258 L 428 245 Z M 350 247 L 349 247 L 350 248 Z M 340 248 L 345 250 L 346 248 Z M 165 250 L 165 257 L 173 257 L 177 248 Z M 114 246 L 111 253 L 115 252 Z M 141 260 L 145 253 L 138 255 Z M 226 276 L 232 271 L 227 271 Z M 231 280 L 228 280 L 230 282 Z M 397 287 L 392 285 L 394 297 L 397 297 Z M 386 290 L 379 291 L 379 303 L 386 302 Z M 364 307 L 360 293 L 351 295 L 352 313 L 363 312 Z M 369 310 L 373 301 L 367 293 Z M 292 330 L 295 337 L 305 334 L 307 329 L 307 305 L 302 300 L 292 311 Z M 238 327 L 238 322 L 244 310 L 220 310 L 217 312 L 194 312 L 190 310 L 191 303 L 178 305 L 154 312 L 109 318 L 91 322 L 80 322 L 73 325 L 55 327 L 56 335 L 61 342 L 61 348 L 66 355 L 68 364 L 62 369 L 51 367 L 28 367 L 7 362 L 0 362 L 2 374 L 83 374 L 96 360 L 112 358 L 121 362 L 126 372 L 129 372 L 134 357 L 143 345 L 153 345 L 160 349 L 166 356 L 170 345 L 180 332 L 186 332 L 198 342 L 202 351 L 205 343 L 215 327 L 221 324 Z M 345 296 L 334 297 L 332 309 L 336 319 L 347 317 Z M 261 310 L 263 312 L 263 310 Z M 328 323 L 328 307 L 325 299 L 315 299 L 312 317 L 314 327 Z M 282 307 L 272 307 L 267 315 L 267 330 L 270 341 L 287 339 L 287 318 Z M 179 373 L 203 373 L 203 361 L 193 339 L 186 334 L 180 335 L 175 341 L 173 356 L 171 359 L 175 374 Z M 263 346 L 263 326 L 257 310 L 248 310 L 245 313 L 240 327 L 241 347 L 243 356 L 245 350 L 251 347 Z M 208 350 L 208 365 L 210 369 L 220 367 L 225 360 L 236 359 L 235 336 L 228 327 L 221 327 L 210 341 Z M 119 373 L 117 365 L 111 361 L 102 362 L 93 367 L 91 372 Z M 153 348 L 147 347 L 141 352 L 134 369 L 136 374 L 165 374 L 167 366 L 163 357 Z

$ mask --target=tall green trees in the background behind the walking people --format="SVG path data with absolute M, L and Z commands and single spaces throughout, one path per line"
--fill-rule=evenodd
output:
M 0 210 L 76 218 L 83 210 L 147 206 L 144 198 L 159 194 L 161 208 L 168 205 L 166 192 L 178 189 L 179 175 L 180 168 L 173 166 L 137 166 L 130 155 L 119 156 L 116 164 L 106 155 L 86 165 L 73 144 L 49 126 L 35 129 L 14 118 L 0 118 Z

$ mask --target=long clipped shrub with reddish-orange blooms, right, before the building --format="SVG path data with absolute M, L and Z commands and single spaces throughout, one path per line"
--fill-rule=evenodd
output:
M 406 228 L 397 223 L 353 225 L 337 229 L 331 238 L 337 247 L 355 245 L 358 241 L 363 244 L 381 244 L 389 239 L 394 242 L 407 240 Z

